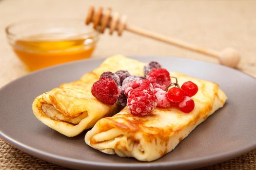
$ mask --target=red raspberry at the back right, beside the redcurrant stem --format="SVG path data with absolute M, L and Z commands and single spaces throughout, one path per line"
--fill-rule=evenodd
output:
M 165 68 L 153 69 L 146 78 L 154 88 L 161 88 L 162 90 L 165 90 L 171 84 L 170 73 Z

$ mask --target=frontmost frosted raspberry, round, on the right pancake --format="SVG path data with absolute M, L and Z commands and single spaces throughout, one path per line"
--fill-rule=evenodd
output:
M 127 99 L 128 110 L 135 116 L 146 116 L 157 107 L 158 99 L 153 91 L 143 89 L 132 90 Z

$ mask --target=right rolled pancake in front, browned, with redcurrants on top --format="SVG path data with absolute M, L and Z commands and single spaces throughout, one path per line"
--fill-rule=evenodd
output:
M 85 135 L 85 142 L 103 153 L 153 161 L 172 151 L 227 99 L 215 83 L 177 72 L 170 72 L 170 75 L 177 77 L 179 85 L 186 81 L 197 84 L 198 92 L 192 97 L 195 101 L 192 112 L 183 113 L 176 107 L 156 108 L 149 116 L 137 117 L 125 107 L 113 117 L 98 120 Z

